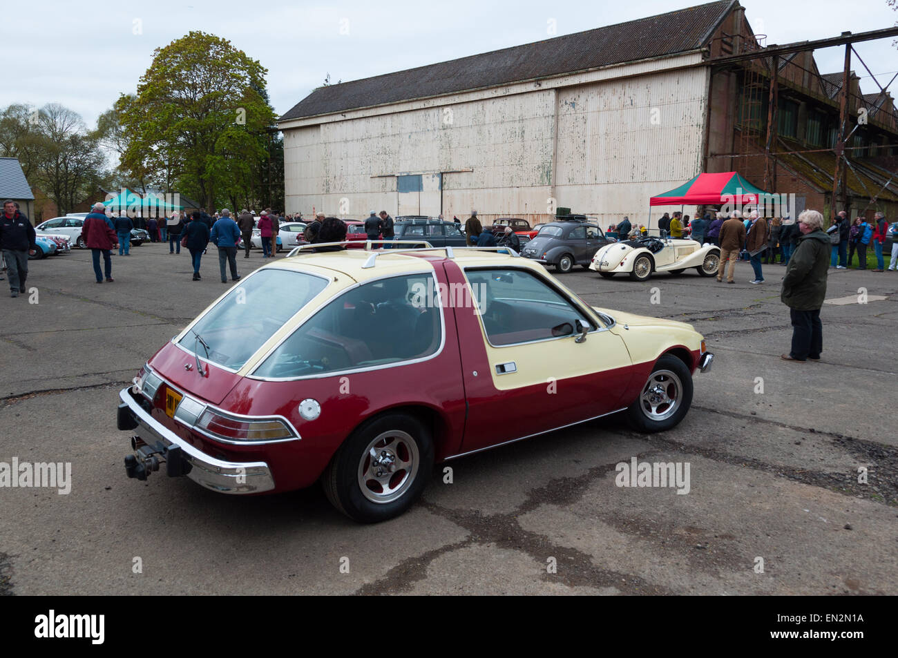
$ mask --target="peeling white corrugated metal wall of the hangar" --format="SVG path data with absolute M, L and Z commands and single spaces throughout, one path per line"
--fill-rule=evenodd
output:
M 704 68 L 647 72 L 560 88 L 557 171 L 553 89 L 290 128 L 286 211 L 408 214 L 412 202 L 394 176 L 425 174 L 416 215 L 437 215 L 442 202 L 447 217 L 474 208 L 486 220 L 544 220 L 553 197 L 603 225 L 623 215 L 642 221 L 648 197 L 699 171 L 706 76 Z

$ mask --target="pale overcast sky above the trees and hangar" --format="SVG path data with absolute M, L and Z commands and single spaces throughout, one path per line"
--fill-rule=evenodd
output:
M 483 2 L 414 0 L 383 2 L 250 2 L 248 0 L 92 0 L 90 3 L 4 4 L 5 48 L 0 48 L 4 101 L 40 107 L 59 102 L 89 126 L 120 92 L 134 92 L 153 50 L 191 30 L 211 32 L 258 59 L 269 70 L 271 102 L 278 115 L 302 100 L 324 76 L 332 82 L 400 71 L 547 39 L 557 33 L 665 13 L 690 0 L 629 0 L 625 3 Z M 744 0 L 755 33 L 767 43 L 822 39 L 842 31 L 894 25 L 898 13 L 886 0 Z M 898 71 L 892 39 L 858 44 L 861 57 L 885 84 Z M 821 73 L 840 71 L 842 48 L 817 51 Z M 858 75 L 867 76 L 854 61 Z M 885 79 L 883 79 L 885 77 Z M 878 91 L 862 81 L 864 92 Z M 898 96 L 898 81 L 890 87 Z

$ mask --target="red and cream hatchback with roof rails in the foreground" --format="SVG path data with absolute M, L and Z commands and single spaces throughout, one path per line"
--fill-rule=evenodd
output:
M 129 477 L 164 467 L 229 494 L 321 480 L 341 512 L 382 521 L 436 462 L 616 412 L 670 429 L 713 358 L 691 326 L 593 308 L 514 252 L 299 251 L 120 391 Z

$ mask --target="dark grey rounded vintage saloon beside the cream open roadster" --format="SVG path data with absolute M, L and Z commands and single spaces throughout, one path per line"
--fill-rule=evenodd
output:
M 575 265 L 589 268 L 595 252 L 610 242 L 595 224 L 550 222 L 541 227 L 533 240 L 522 246 L 521 255 L 543 265 L 552 265 L 564 274 Z

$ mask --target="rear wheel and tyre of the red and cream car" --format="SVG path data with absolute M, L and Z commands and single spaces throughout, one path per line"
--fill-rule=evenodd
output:
M 377 443 L 372 446 L 373 442 Z M 392 449 L 391 446 L 396 447 Z M 393 459 L 409 461 L 409 469 L 405 469 L 404 475 L 403 469 L 392 472 L 387 486 L 392 486 L 393 479 L 399 478 L 392 492 L 381 487 L 374 476 L 367 480 L 372 486 L 363 489 L 360 482 L 364 478 L 363 473 L 377 468 L 368 454 L 369 448 L 383 448 L 381 454 L 387 452 L 386 459 L 392 456 Z M 418 500 L 427 487 L 433 465 L 434 443 L 427 426 L 408 414 L 386 414 L 359 427 L 340 446 L 321 476 L 321 484 L 330 503 L 350 519 L 362 523 L 382 522 L 399 516 Z M 412 472 L 409 473 L 409 470 Z M 389 471 L 384 472 L 386 475 Z M 381 492 L 377 492 L 376 487 L 381 487 Z M 384 500 L 377 502 L 377 498 Z

